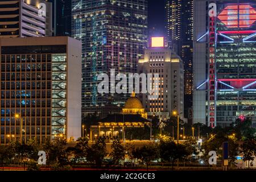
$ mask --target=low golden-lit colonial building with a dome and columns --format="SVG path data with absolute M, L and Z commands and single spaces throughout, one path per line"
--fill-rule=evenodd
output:
M 94 140 L 98 136 L 111 139 L 117 137 L 120 132 L 124 132 L 127 127 L 138 128 L 144 125 L 149 126 L 150 121 L 147 120 L 147 113 L 141 101 L 133 93 L 126 101 L 121 114 L 109 114 L 100 119 L 98 125 L 90 126 L 90 139 Z

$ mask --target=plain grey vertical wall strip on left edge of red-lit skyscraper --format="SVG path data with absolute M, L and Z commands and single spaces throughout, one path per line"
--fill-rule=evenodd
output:
M 207 55 L 206 41 L 207 36 L 197 42 L 208 30 L 206 25 L 206 4 L 205 0 L 194 1 L 194 42 L 193 42 L 193 123 L 206 124 L 206 89 L 207 84 L 204 84 L 199 89 L 196 89 L 205 80 L 207 80 Z

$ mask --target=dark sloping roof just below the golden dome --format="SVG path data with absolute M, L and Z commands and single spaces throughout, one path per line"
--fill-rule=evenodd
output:
M 150 122 L 139 114 L 109 114 L 99 122 Z

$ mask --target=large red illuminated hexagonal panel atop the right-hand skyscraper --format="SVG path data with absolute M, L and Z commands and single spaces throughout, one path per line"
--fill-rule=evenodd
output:
M 229 28 L 237 28 L 238 25 L 241 28 L 247 28 L 250 27 L 256 21 L 256 11 L 250 5 L 226 6 L 225 9 L 222 10 L 221 13 L 218 15 L 218 19 L 220 19 L 221 22 Z

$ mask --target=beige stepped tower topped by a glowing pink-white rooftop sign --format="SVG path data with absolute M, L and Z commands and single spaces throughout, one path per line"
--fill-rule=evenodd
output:
M 163 40 L 163 38 L 162 38 Z M 155 38 L 159 43 L 159 40 Z M 144 56 L 139 60 L 138 73 L 159 74 L 159 96 L 151 99 L 149 93 L 140 94 L 140 99 L 148 116 L 158 115 L 161 119 L 168 119 L 173 111 L 183 117 L 184 72 L 183 62 L 174 51 L 164 47 L 164 44 L 152 44 L 146 49 Z M 160 38 L 161 42 L 161 38 Z

